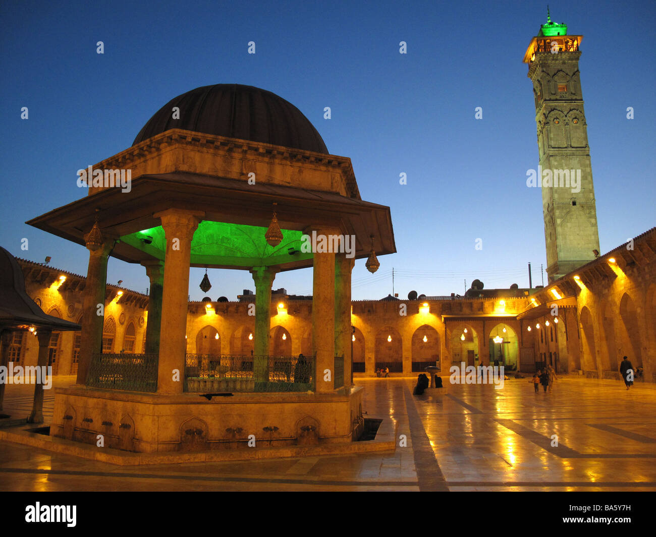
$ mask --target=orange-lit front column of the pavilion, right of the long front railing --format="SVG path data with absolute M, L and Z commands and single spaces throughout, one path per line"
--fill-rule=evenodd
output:
M 317 235 L 328 239 L 338 235 L 332 228 L 314 228 Z M 333 391 L 335 376 L 335 254 L 314 252 L 312 281 L 312 342 L 316 355 L 316 391 Z M 324 371 L 331 371 L 331 380 L 323 380 Z

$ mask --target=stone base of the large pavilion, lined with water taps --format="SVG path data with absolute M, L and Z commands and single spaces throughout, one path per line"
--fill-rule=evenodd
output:
M 361 387 L 335 393 L 161 395 L 55 390 L 52 437 L 137 453 L 351 443 L 363 429 Z

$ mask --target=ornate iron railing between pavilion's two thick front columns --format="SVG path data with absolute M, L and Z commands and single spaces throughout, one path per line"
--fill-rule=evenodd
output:
M 184 391 L 315 391 L 315 386 L 314 356 L 187 354 L 185 357 Z

